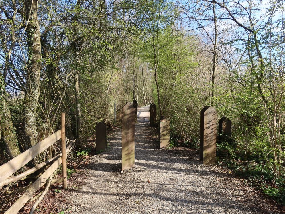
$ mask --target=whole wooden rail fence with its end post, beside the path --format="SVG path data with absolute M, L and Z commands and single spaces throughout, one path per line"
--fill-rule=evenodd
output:
M 38 156 L 41 152 L 45 151 L 48 147 L 54 144 L 56 141 L 61 139 L 61 153 L 51 158 L 48 161 L 42 162 L 32 169 L 29 169 L 19 175 L 11 176 L 13 173 L 21 169 L 24 165 L 26 165 L 29 161 Z M 74 142 L 74 141 L 73 141 Z M 62 164 L 62 177 L 63 177 L 63 188 L 67 188 L 67 176 L 66 176 L 66 154 L 71 151 L 71 142 L 68 147 L 66 147 L 65 140 L 65 113 L 61 113 L 61 128 L 54 134 L 48 136 L 44 140 L 40 141 L 38 144 L 32 146 L 30 149 L 25 152 L 19 154 L 12 160 L 0 166 L 0 187 L 3 185 L 7 185 L 14 181 L 20 180 L 27 175 L 41 169 L 46 166 L 48 163 L 52 163 L 48 169 L 38 179 L 33 183 L 25 192 L 22 194 L 17 201 L 5 212 L 5 214 L 15 214 L 17 213 L 26 203 L 27 201 L 34 195 L 34 193 L 42 187 L 46 180 L 54 173 L 54 171 Z M 60 158 L 61 157 L 61 158 Z M 11 177 L 10 177 L 11 176 Z

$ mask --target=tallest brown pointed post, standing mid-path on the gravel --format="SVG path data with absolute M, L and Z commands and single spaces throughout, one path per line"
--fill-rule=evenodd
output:
M 122 108 L 122 171 L 135 166 L 135 109 L 127 102 Z

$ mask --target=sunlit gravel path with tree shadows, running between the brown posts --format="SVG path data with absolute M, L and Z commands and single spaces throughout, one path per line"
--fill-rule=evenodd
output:
M 111 148 L 89 159 L 87 178 L 65 191 L 71 213 L 276 213 L 267 201 L 217 166 L 204 166 L 188 149 L 158 149 L 158 134 L 138 118 L 135 168 L 120 172 L 121 130 Z M 263 204 L 263 205 L 262 205 Z M 265 206 L 264 206 L 265 204 Z M 266 207 L 266 208 L 263 208 Z M 266 210 L 265 210 L 266 209 Z

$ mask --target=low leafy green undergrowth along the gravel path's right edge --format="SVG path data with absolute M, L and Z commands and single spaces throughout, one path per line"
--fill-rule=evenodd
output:
M 247 160 L 234 144 L 217 144 L 217 164 L 229 168 L 236 176 L 245 179 L 250 186 L 272 197 L 281 206 L 285 206 L 285 172 L 280 168 L 280 175 L 273 171 L 273 160 L 265 161 L 264 156 L 251 152 Z M 277 168 L 279 170 L 279 168 Z

